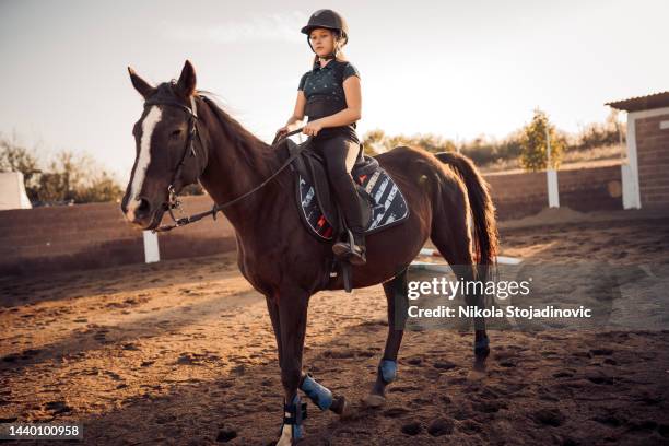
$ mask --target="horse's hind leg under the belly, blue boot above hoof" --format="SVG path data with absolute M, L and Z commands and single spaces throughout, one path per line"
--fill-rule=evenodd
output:
M 380 407 L 386 402 L 386 386 L 397 377 L 397 354 L 407 320 L 407 270 L 403 269 L 395 279 L 384 283 L 388 301 L 388 337 L 384 356 L 378 365 L 376 383 L 369 395 L 363 400 L 367 407 Z

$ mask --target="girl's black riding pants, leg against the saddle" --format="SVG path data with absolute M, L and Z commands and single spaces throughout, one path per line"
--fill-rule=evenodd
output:
M 360 143 L 345 134 L 334 136 L 322 141 L 314 140 L 316 150 L 326 161 L 328 177 L 334 191 L 339 207 L 342 210 L 347 225 L 356 235 L 364 234 L 362 211 L 357 203 L 357 192 L 351 177 L 351 168 L 355 164 Z

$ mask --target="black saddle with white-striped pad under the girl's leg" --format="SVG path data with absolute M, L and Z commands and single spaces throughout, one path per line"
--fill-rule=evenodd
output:
M 286 139 L 286 156 L 300 152 L 291 163 L 291 169 L 295 173 L 295 199 L 300 216 L 307 231 L 318 240 L 334 243 L 342 236 L 350 236 L 350 232 L 331 191 L 322 155 L 304 144 L 309 142 L 298 145 Z M 357 206 L 362 210 L 365 234 L 391 227 L 409 216 L 409 207 L 399 187 L 376 159 L 364 154 L 362 144 L 351 176 L 357 191 Z M 337 275 L 337 263 L 338 260 L 333 259 L 328 280 Z M 350 292 L 350 265 L 340 263 L 344 287 Z

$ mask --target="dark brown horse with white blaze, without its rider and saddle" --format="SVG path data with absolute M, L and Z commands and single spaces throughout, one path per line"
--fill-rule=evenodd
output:
M 196 91 L 189 61 L 177 82 L 155 87 L 130 68 L 129 72 L 145 99 L 133 129 L 137 159 L 121 203 L 137 227 L 152 230 L 160 224 L 171 200 L 168 189 L 178 192 L 199 180 L 222 204 L 251 190 L 281 166 L 278 146 L 254 137 Z M 385 401 L 386 386 L 395 379 L 403 333 L 402 327 L 396 327 L 396 297 L 406 297 L 407 268 L 427 238 L 462 280 L 486 280 L 497 250 L 488 185 L 467 157 L 442 153 L 437 159 L 423 150 L 398 146 L 376 159 L 401 189 L 410 212 L 403 223 L 368 235 L 367 263 L 353 267 L 354 287 L 383 283 L 388 301 L 388 338 L 365 401 L 369 406 Z M 343 410 L 343 398 L 332 398 L 327 388 L 303 374 L 302 364 L 309 297 L 320 290 L 342 290 L 342 279 L 329 277 L 331 243 L 309 235 L 300 220 L 290 169 L 223 213 L 236 232 L 239 270 L 267 300 L 286 403 L 279 444 L 291 444 L 303 435 L 306 406 L 298 389 L 321 410 Z M 482 305 L 481 296 L 467 298 Z M 482 371 L 490 352 L 484 320 L 474 320 L 474 368 Z

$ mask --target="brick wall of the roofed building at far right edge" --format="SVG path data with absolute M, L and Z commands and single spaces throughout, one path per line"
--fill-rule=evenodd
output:
M 636 119 L 636 153 L 642 208 L 669 207 L 669 114 Z

